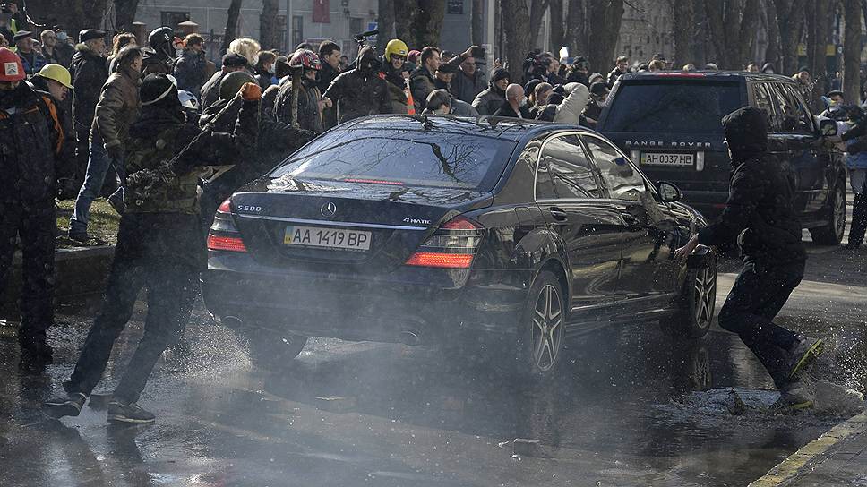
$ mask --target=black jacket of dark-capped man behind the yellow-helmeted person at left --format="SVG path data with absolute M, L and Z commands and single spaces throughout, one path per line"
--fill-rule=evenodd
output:
M 108 79 L 106 58 L 94 53 L 86 44 L 79 44 L 75 47 L 73 64 L 69 71 L 73 75 L 75 132 L 78 134 L 79 142 L 87 141 L 102 85 Z

